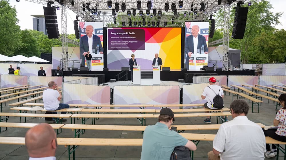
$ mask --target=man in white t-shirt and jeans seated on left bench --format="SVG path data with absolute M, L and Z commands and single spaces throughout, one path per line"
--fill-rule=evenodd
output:
M 43 101 L 44 108 L 47 111 L 57 111 L 59 109 L 69 108 L 68 104 L 59 103 L 61 100 L 61 93 L 59 92 L 59 88 L 54 81 L 49 82 L 49 88 L 43 92 Z M 56 89 L 56 90 L 55 90 Z M 67 112 L 61 112 L 61 114 L 66 114 Z M 57 112 L 53 112 L 53 114 L 57 114 Z M 55 118 L 53 121 L 55 122 Z M 66 119 L 61 119 L 62 122 L 67 121 Z

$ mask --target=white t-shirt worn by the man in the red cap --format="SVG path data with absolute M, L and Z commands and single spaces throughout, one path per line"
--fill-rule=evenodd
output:
M 214 91 L 212 91 L 210 88 Z M 215 98 L 216 95 L 220 95 L 222 96 L 223 95 L 223 89 L 218 86 L 218 85 L 209 85 L 208 87 L 205 87 L 204 88 L 204 92 L 202 93 L 203 96 L 205 96 L 208 100 L 208 108 L 210 109 L 217 109 L 215 107 L 212 107 L 212 104 L 214 103 L 213 102 L 213 99 Z

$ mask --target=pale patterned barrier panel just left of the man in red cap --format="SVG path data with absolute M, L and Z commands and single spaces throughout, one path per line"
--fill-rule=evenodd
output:
M 202 99 L 201 95 L 204 91 L 204 88 L 207 87 L 209 83 L 196 83 L 183 85 L 183 104 L 197 104 L 197 103 L 206 103 L 206 99 Z M 195 108 L 195 107 L 183 107 L 183 108 Z

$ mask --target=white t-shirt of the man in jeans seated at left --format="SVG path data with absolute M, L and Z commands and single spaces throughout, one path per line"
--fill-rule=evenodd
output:
M 44 108 L 47 111 L 55 111 L 59 108 L 59 100 L 57 100 L 57 97 L 59 97 L 59 92 L 54 89 L 46 89 L 43 92 L 43 101 L 44 101 Z

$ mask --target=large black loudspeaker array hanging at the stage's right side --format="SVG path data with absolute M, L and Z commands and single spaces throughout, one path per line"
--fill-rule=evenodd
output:
M 233 22 L 233 39 L 243 39 L 247 20 L 247 12 L 248 7 L 236 7 Z

